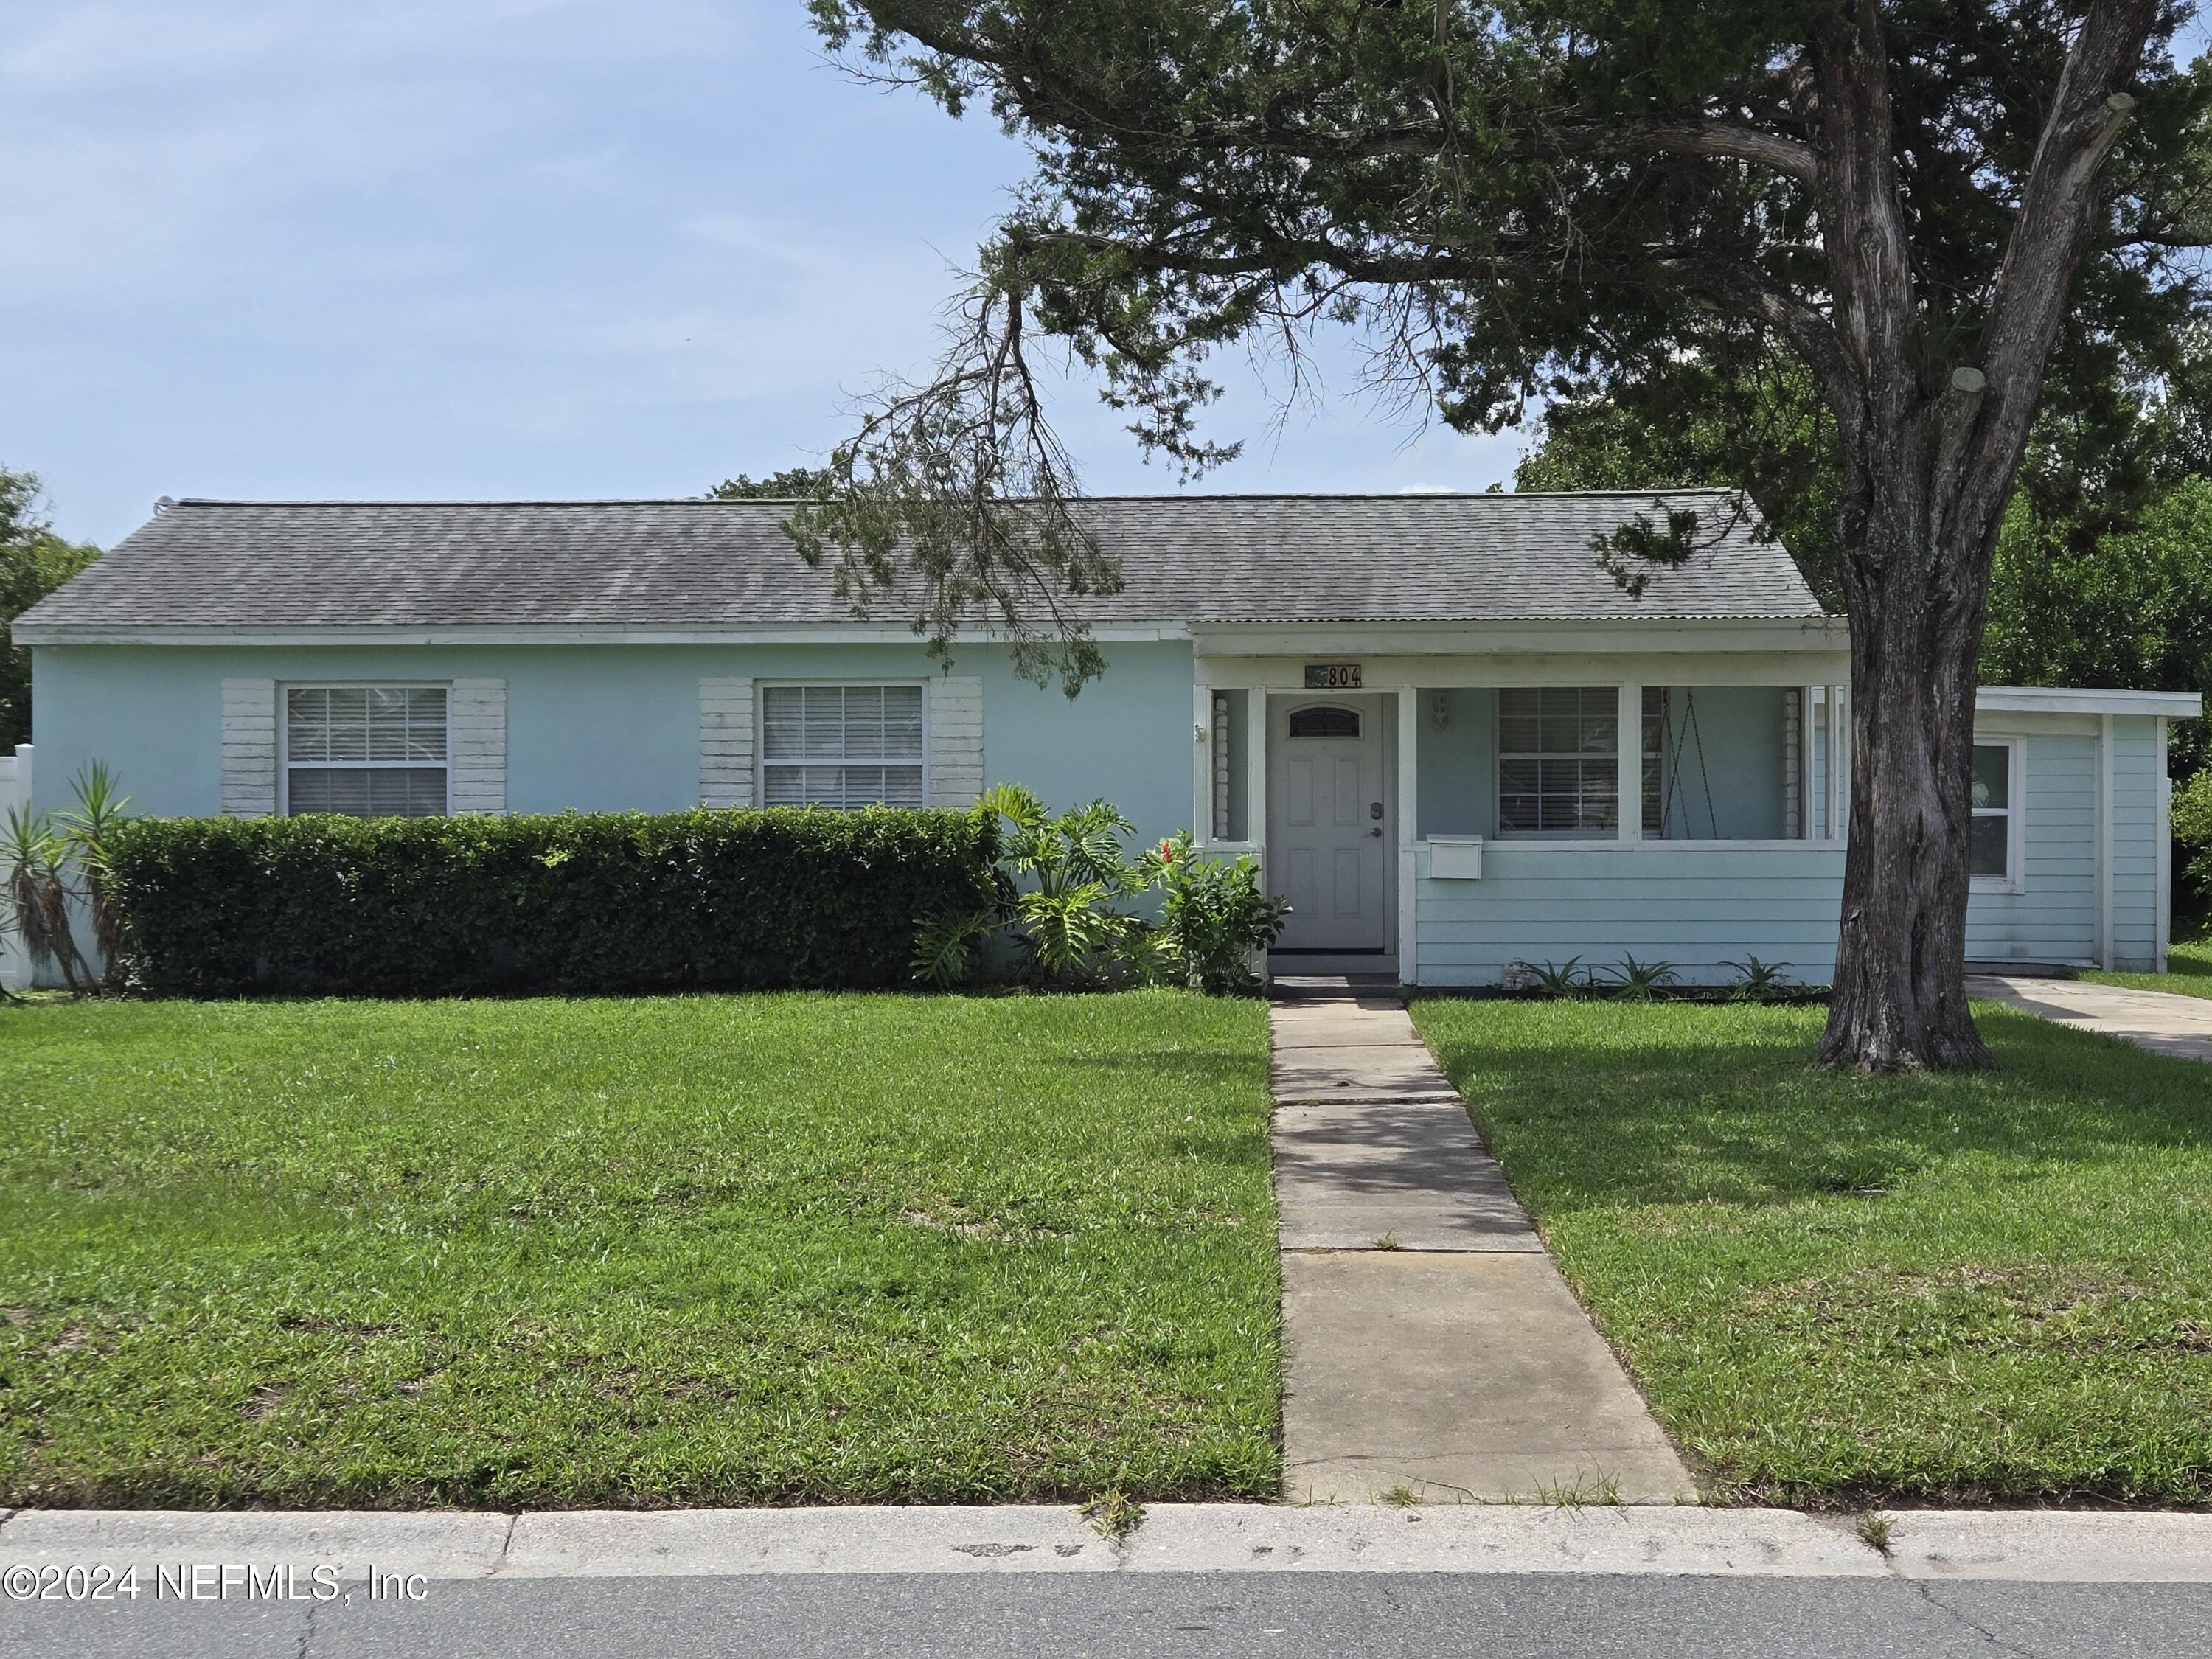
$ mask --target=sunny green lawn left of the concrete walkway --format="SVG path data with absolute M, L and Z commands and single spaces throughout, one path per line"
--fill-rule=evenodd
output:
M 1265 1011 L 0 1009 L 0 1504 L 1281 1489 Z

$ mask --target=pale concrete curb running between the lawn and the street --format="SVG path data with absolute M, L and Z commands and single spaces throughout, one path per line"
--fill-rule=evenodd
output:
M 1062 1506 L 664 1511 L 62 1511 L 0 1520 L 0 1573 L 206 1564 L 425 1579 L 779 1573 L 1588 1573 L 2212 1582 L 2212 1515 L 1699 1506 L 1155 1504 L 1121 1540 Z

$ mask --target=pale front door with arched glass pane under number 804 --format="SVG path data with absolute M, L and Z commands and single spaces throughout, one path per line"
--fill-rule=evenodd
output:
M 1380 697 L 1267 708 L 1267 885 L 1290 900 L 1279 951 L 1389 947 L 1389 792 Z

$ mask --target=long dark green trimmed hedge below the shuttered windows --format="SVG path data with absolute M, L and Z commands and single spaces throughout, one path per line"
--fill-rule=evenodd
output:
M 113 880 L 155 995 L 885 987 L 995 858 L 942 810 L 137 818 Z

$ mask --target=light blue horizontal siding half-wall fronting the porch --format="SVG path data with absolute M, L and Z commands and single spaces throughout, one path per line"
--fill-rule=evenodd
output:
M 1482 852 L 1480 880 L 1436 880 L 1420 854 L 1422 984 L 1493 984 L 1509 962 L 1672 962 L 1725 984 L 1745 956 L 1820 984 L 1836 967 L 1838 847 L 1511 847 Z

